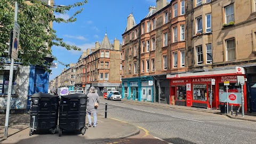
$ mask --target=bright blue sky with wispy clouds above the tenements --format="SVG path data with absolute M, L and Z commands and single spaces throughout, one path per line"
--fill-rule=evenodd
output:
M 68 5 L 82 0 L 63 1 L 55 0 L 55 5 Z M 122 43 L 127 17 L 133 12 L 133 17 L 138 24 L 145 18 L 150 5 L 156 5 L 155 0 L 88 0 L 88 3 L 70 10 L 67 14 L 55 14 L 56 17 L 68 19 L 81 8 L 83 12 L 77 15 L 74 23 L 53 23 L 53 28 L 57 30 L 57 36 L 63 41 L 76 45 L 82 50 L 95 46 L 95 42 L 102 42 L 106 33 L 110 43 L 118 39 Z M 52 47 L 52 54 L 63 63 L 76 63 L 82 51 L 68 51 L 63 47 Z M 58 68 L 51 68 L 50 80 L 61 74 L 65 66 L 58 63 Z

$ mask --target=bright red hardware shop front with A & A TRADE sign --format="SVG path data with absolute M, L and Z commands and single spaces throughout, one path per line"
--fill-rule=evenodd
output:
M 237 73 L 237 68 L 241 72 Z M 242 86 L 236 84 L 237 76 L 245 76 L 244 73 L 243 68 L 236 67 L 229 70 L 167 75 L 166 78 L 170 79 L 171 105 L 200 108 L 210 108 L 212 105 L 212 108 L 217 109 L 220 102 L 227 102 L 228 98 L 229 107 L 233 105 L 235 110 L 242 103 Z M 226 86 L 224 82 L 229 82 L 229 85 Z M 246 85 L 243 91 L 246 111 Z

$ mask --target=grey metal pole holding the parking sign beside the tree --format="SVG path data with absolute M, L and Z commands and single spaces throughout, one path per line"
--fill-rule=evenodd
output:
M 17 2 L 15 2 L 15 8 L 14 9 L 15 9 L 15 12 L 14 12 L 14 23 L 15 23 L 15 22 L 17 22 L 17 19 L 18 19 L 18 3 Z M 12 44 L 10 43 L 9 46 L 12 46 Z M 14 65 L 14 59 L 11 58 L 10 75 L 9 75 L 9 86 L 8 86 L 8 95 L 7 95 L 7 106 L 6 106 L 6 115 L 5 115 L 5 125 L 4 125 L 4 138 L 5 139 L 8 136 L 10 102 L 11 102 L 11 93 L 12 93 L 13 65 Z

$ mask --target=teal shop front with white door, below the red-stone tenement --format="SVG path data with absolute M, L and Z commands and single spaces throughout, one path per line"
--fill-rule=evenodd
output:
M 122 99 L 153 102 L 153 77 L 122 79 L 122 93 Z

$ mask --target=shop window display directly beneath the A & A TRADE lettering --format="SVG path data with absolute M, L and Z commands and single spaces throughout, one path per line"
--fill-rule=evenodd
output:
M 206 84 L 193 85 L 193 100 L 207 101 Z

